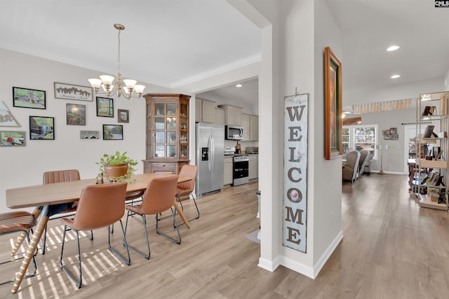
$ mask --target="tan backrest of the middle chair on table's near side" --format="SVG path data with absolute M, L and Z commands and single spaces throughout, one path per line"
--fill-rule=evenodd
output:
M 152 215 L 170 209 L 175 202 L 177 177 L 164 176 L 150 180 L 138 212 Z

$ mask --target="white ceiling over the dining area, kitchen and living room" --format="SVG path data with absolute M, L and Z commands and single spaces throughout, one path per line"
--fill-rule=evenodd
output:
M 121 73 L 169 88 L 260 55 L 260 29 L 225 0 L 0 1 L 1 48 L 116 74 L 118 22 L 126 27 Z M 343 33 L 345 90 L 448 71 L 449 8 L 429 0 L 325 1 Z M 387 53 L 392 44 L 401 48 Z M 210 92 L 257 103 L 257 79 Z

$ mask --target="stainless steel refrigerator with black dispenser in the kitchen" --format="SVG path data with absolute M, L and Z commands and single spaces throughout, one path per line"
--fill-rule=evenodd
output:
M 224 156 L 225 126 L 196 123 L 196 195 L 206 195 L 223 188 Z

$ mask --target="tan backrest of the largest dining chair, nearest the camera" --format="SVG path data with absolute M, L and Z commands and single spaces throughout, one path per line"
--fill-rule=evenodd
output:
M 72 228 L 94 230 L 119 221 L 125 214 L 126 186 L 125 181 L 85 187 L 79 197 Z

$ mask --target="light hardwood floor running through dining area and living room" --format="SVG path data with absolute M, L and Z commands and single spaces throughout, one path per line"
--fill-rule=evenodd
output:
M 58 266 L 62 226 L 51 221 L 39 274 L 25 279 L 19 293 L 0 286 L 1 298 L 449 298 L 449 214 L 420 208 L 408 193 L 408 177 L 363 175 L 344 183 L 344 238 L 316 279 L 279 267 L 257 267 L 260 245 L 246 239 L 257 230 L 257 183 L 227 188 L 198 199 L 201 218 L 180 227 L 182 244 L 154 231 L 148 217 L 152 258 L 131 251 L 123 265 L 107 250 L 107 230 L 83 237 L 83 286 L 76 289 Z M 186 207 L 186 214 L 193 207 Z M 163 230 L 173 232 L 170 220 Z M 143 231 L 132 221 L 128 242 L 140 246 Z M 113 246 L 121 247 L 116 225 Z M 11 250 L 1 238 L 1 258 Z M 76 262 L 76 241 L 67 253 Z M 66 259 L 66 263 L 69 260 Z M 18 269 L 1 265 L 1 279 Z

